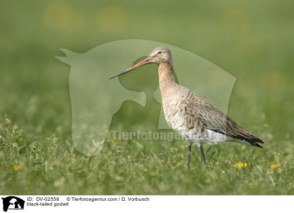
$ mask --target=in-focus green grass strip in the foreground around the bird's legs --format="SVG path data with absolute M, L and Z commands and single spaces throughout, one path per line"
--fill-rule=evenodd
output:
M 286 151 L 293 150 L 291 143 L 282 153 L 211 146 L 205 169 L 196 146 L 190 168 L 184 165 L 187 145 L 180 142 L 106 141 L 99 155 L 86 157 L 54 135 L 27 138 L 7 117 L 0 135 L 1 194 L 294 193 L 293 154 Z M 248 166 L 235 168 L 234 162 Z M 280 166 L 271 168 L 271 162 Z M 21 168 L 15 171 L 14 165 Z

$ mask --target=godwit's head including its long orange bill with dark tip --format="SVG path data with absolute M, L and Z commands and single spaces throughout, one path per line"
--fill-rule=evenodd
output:
M 167 47 L 156 47 L 155 49 L 152 50 L 152 52 L 148 55 L 146 59 L 143 61 L 139 62 L 138 64 L 134 65 L 133 67 L 122 71 L 114 76 L 111 76 L 108 79 L 112 79 L 116 76 L 122 75 L 128 71 L 135 70 L 136 68 L 142 67 L 147 64 L 162 64 L 162 63 L 167 63 L 172 65 L 172 53 Z

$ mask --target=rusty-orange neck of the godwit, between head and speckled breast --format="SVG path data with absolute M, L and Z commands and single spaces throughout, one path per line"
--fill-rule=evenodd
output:
M 161 63 L 158 67 L 159 88 L 164 100 L 169 93 L 178 85 L 173 76 L 173 67 L 170 63 Z

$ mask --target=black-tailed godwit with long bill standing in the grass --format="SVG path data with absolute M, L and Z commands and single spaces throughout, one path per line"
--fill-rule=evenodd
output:
M 187 140 L 187 163 L 190 166 L 192 144 L 199 149 L 204 166 L 207 162 L 203 144 L 239 142 L 262 148 L 261 139 L 245 130 L 208 100 L 176 83 L 172 65 L 172 53 L 167 47 L 156 47 L 146 59 L 133 67 L 109 77 L 112 79 L 147 64 L 158 65 L 159 88 L 162 106 L 168 125 Z

